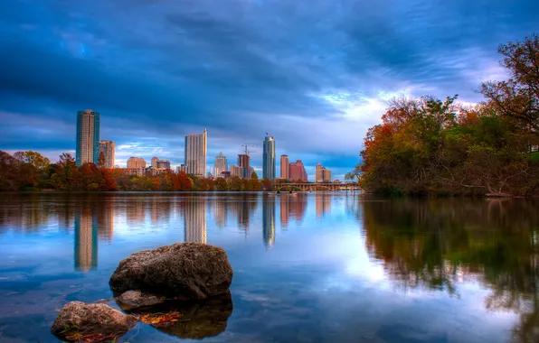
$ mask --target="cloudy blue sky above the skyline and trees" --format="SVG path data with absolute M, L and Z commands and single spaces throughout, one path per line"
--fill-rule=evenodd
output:
M 3 0 L 0 150 L 74 155 L 77 111 L 130 156 L 184 162 L 208 130 L 208 170 L 241 144 L 341 179 L 392 97 L 482 100 L 498 44 L 539 32 L 534 0 Z

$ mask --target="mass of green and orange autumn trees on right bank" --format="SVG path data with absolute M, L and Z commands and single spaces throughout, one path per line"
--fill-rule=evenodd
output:
M 482 83 L 477 105 L 390 100 L 347 178 L 386 195 L 539 196 L 539 36 L 498 52 L 509 79 Z

